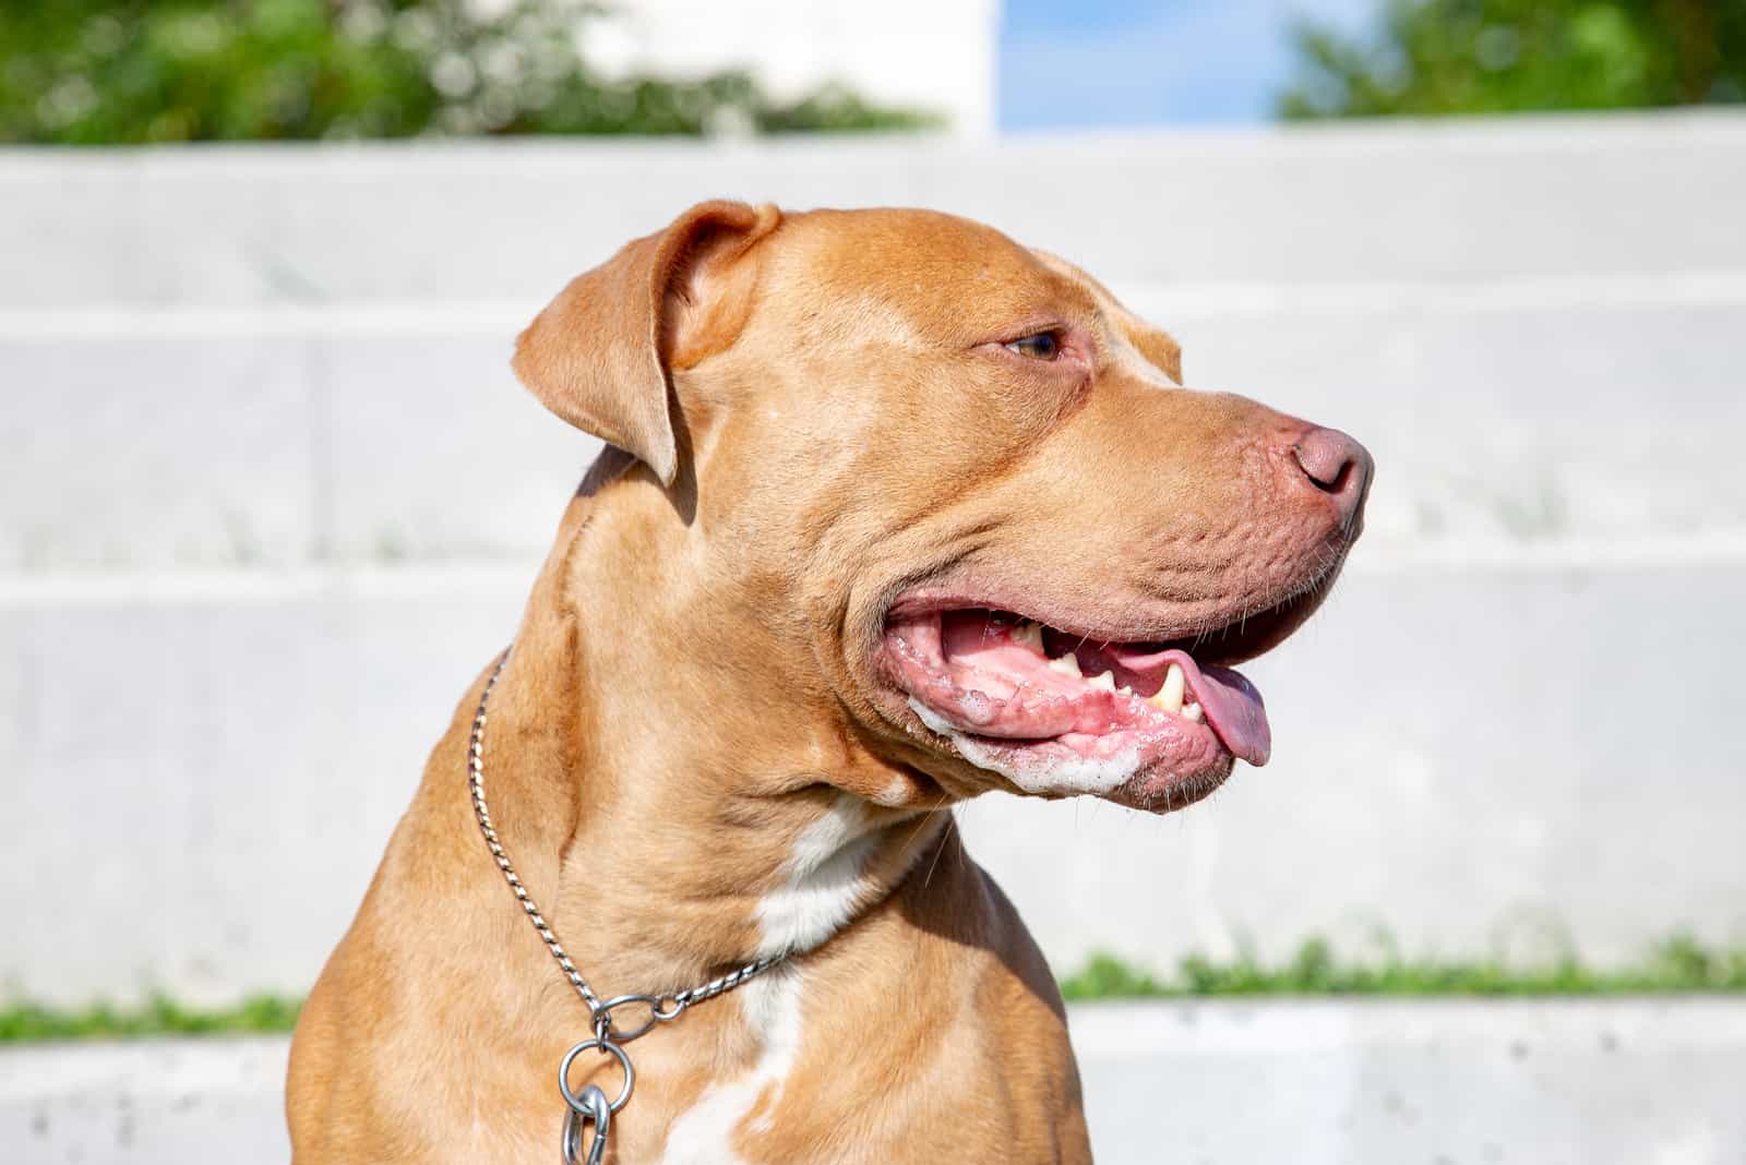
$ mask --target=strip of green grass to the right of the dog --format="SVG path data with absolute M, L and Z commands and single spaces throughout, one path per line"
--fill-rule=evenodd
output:
M 1093 954 L 1062 980 L 1069 999 L 1206 996 L 1617 996 L 1690 991 L 1746 992 L 1746 949 L 1709 950 L 1688 935 L 1659 944 L 1634 966 L 1591 968 L 1573 952 L 1543 966 L 1503 961 L 1404 959 L 1343 963 L 1322 938 L 1304 942 L 1280 964 L 1254 954 L 1231 963 L 1189 956 L 1158 977 L 1112 954 Z

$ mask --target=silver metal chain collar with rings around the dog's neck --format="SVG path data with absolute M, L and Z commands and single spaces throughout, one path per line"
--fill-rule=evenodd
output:
M 473 715 L 473 736 L 466 753 L 466 771 L 468 787 L 473 792 L 473 816 L 478 820 L 478 832 L 485 837 L 485 848 L 491 849 L 491 856 L 498 862 L 498 869 L 503 870 L 505 881 L 510 882 L 510 889 L 515 893 L 515 900 L 522 905 L 527 914 L 527 921 L 533 923 L 534 931 L 538 931 L 540 940 L 557 959 L 557 966 L 564 971 L 564 978 L 569 985 L 576 989 L 581 1001 L 588 1008 L 588 1019 L 594 1024 L 594 1038 L 583 1039 L 573 1046 L 566 1055 L 564 1062 L 557 1071 L 557 1088 L 564 1095 L 564 1104 L 569 1111 L 564 1114 L 564 1139 L 562 1155 L 564 1165 L 599 1165 L 606 1156 L 606 1135 L 611 1127 L 611 1116 L 618 1109 L 625 1107 L 630 1099 L 630 1090 L 636 1087 L 637 1076 L 630 1067 L 630 1057 L 625 1053 L 623 1045 L 630 1043 L 637 1036 L 646 1036 L 660 1024 L 670 1024 L 679 1019 L 686 1008 L 693 1003 L 702 1003 L 704 999 L 714 999 L 725 991 L 733 991 L 747 978 L 768 971 L 772 966 L 787 957 L 787 954 L 770 956 L 768 959 L 758 959 L 756 963 L 747 963 L 737 971 L 728 971 L 719 978 L 712 978 L 707 984 L 700 984 L 688 991 L 665 996 L 613 996 L 611 999 L 601 999 L 588 987 L 588 980 L 581 977 L 576 964 L 569 961 L 569 954 L 564 950 L 564 944 L 557 940 L 552 926 L 540 914 L 540 907 L 534 905 L 533 896 L 527 888 L 522 886 L 522 879 L 515 874 L 515 865 L 510 862 L 510 855 L 505 853 L 503 842 L 498 841 L 498 830 L 491 823 L 491 807 L 485 804 L 485 703 L 491 699 L 491 689 L 496 687 L 498 677 L 503 675 L 503 664 L 510 661 L 510 652 L 515 644 L 503 649 L 498 656 L 498 666 L 491 670 L 485 678 L 485 689 L 478 694 L 478 713 Z M 613 1012 L 620 1008 L 648 1008 L 648 1019 L 623 1031 L 613 1025 Z M 576 1057 L 590 1048 L 599 1048 L 601 1055 L 611 1055 L 618 1060 L 618 1067 L 625 1073 L 625 1087 L 620 1090 L 616 1100 L 608 1100 L 606 1093 L 595 1087 L 588 1085 L 581 1092 L 574 1092 L 569 1087 L 569 1066 L 576 1062 Z M 583 1146 L 585 1125 L 594 1125 L 594 1141 Z

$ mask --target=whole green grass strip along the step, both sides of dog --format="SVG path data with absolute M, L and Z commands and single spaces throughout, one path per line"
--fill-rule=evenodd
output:
M 1322 938 L 1304 942 L 1280 964 L 1252 954 L 1229 963 L 1189 956 L 1175 975 L 1159 977 L 1112 954 L 1093 954 L 1084 968 L 1062 980 L 1062 994 L 1091 999 L 1184 999 L 1229 996 L 1627 996 L 1674 992 L 1746 992 L 1746 949 L 1713 950 L 1687 935 L 1659 944 L 1634 966 L 1591 968 L 1575 954 L 1545 966 L 1505 961 L 1404 959 L 1385 954 L 1374 963 L 1343 963 Z M 40 1003 L 0 1005 L 0 1043 L 47 1039 L 124 1039 L 138 1036 L 206 1036 L 288 1032 L 300 999 L 251 996 L 230 1008 L 189 1008 L 154 996 L 138 1008 L 100 1003 L 51 1008 Z

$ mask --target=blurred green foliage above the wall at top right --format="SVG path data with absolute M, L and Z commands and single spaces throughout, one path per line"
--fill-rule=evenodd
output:
M 1388 0 L 1379 35 L 1294 44 L 1287 119 L 1746 101 L 1746 0 Z

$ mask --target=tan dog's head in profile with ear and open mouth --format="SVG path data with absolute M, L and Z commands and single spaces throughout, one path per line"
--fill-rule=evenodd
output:
M 1182 387 L 1084 272 L 929 211 L 705 202 L 573 281 L 515 370 L 665 490 L 669 616 L 894 801 L 1168 809 L 1266 762 L 1233 664 L 1315 610 L 1371 483 L 1351 438 Z

